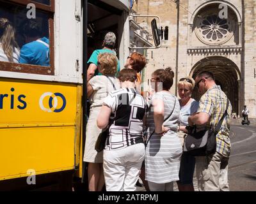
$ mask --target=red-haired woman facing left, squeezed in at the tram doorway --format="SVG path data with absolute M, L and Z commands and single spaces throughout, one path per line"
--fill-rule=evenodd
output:
M 146 66 L 146 57 L 138 52 L 132 53 L 125 62 L 125 68 L 134 69 L 137 73 L 138 81 L 136 83 L 136 90 L 141 92 L 141 75 L 140 72 Z M 143 94 L 143 92 L 141 92 Z

